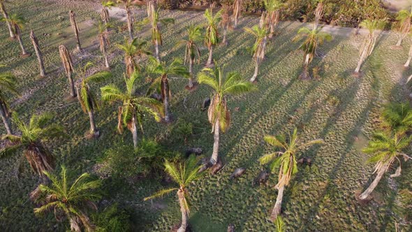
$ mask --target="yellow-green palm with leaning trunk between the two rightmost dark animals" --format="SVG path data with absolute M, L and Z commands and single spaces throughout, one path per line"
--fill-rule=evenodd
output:
M 281 212 L 282 198 L 284 197 L 284 189 L 288 186 L 292 176 L 297 173 L 297 162 L 296 155 L 297 152 L 304 150 L 311 145 L 323 143 L 323 140 L 311 140 L 304 143 L 297 136 L 297 129 L 293 130 L 293 134 L 290 135 L 288 140 L 285 136 L 265 136 L 265 142 L 269 143 L 274 147 L 279 147 L 283 151 L 273 152 L 271 154 L 265 154 L 260 157 L 260 164 L 269 164 L 272 173 L 277 173 L 279 171 L 278 182 L 276 188 L 278 189 L 278 194 L 276 198 L 276 203 L 272 210 L 272 215 L 270 218 L 275 221 Z

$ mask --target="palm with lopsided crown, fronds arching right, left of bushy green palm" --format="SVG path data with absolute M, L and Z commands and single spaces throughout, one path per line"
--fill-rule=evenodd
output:
M 98 136 L 96 131 L 96 124 L 94 123 L 94 111 L 100 108 L 98 104 L 98 99 L 96 94 L 90 89 L 89 83 L 94 82 L 103 82 L 108 78 L 112 77 L 112 73 L 108 71 L 101 71 L 98 73 L 94 73 L 93 75 L 86 76 L 87 69 L 92 66 L 91 62 L 87 62 L 84 67 L 80 70 L 80 78 L 82 82 L 80 83 L 80 91 L 77 90 L 78 100 L 80 102 L 80 106 L 82 106 L 82 110 L 84 113 L 89 115 L 90 119 L 90 131 L 89 134 L 91 136 Z

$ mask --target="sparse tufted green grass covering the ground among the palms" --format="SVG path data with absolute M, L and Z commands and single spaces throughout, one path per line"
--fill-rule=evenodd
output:
M 35 4 L 36 2 L 36 4 Z M 84 4 L 84 5 L 83 5 Z M 68 22 L 68 10 L 78 15 L 80 37 L 83 47 L 89 52 L 87 60 L 98 62 L 103 67 L 102 57 L 96 44 L 96 30 L 89 25 L 91 17 L 98 18 L 98 13 L 80 3 L 73 7 L 57 5 L 52 1 L 21 1 L 8 5 L 11 11 L 23 13 L 31 21 L 43 54 L 47 78 L 36 80 L 38 66 L 36 57 L 20 58 L 20 48 L 16 41 L 9 41 L 5 25 L 0 27 L 0 61 L 7 64 L 1 71 L 13 71 L 19 79 L 18 89 L 23 100 L 12 97 L 13 109 L 24 119 L 29 115 L 43 111 L 54 113 L 54 121 L 65 126 L 69 137 L 50 143 L 57 155 L 58 165 L 66 164 L 75 173 L 94 172 L 96 164 L 105 161 L 105 151 L 115 145 L 132 146 L 131 133 L 116 133 L 117 104 L 103 107 L 96 113 L 96 123 L 102 136 L 98 140 L 84 139 L 84 132 L 89 127 L 88 117 L 77 102 L 68 104 L 64 96 L 68 94 L 68 83 L 61 73 L 58 46 L 65 44 L 69 50 L 75 43 Z M 175 25 L 162 28 L 164 45 L 161 46 L 162 59 L 169 61 L 173 57 L 182 57 L 184 48 L 175 47 L 175 43 L 185 35 L 184 27 L 189 23 L 203 23 L 202 13 L 164 11 L 168 17 L 175 17 Z M 142 18 L 145 10 L 138 11 Z M 61 19 L 61 17 L 63 19 Z M 120 22 L 116 22 L 120 26 Z M 238 71 L 244 78 L 253 74 L 253 62 L 246 48 L 253 43 L 253 38 L 244 33 L 242 27 L 251 27 L 258 23 L 256 17 L 242 17 L 240 29 L 228 34 L 228 47 L 217 47 L 214 59 L 225 64 L 226 71 Z M 312 66 L 321 68 L 321 79 L 301 81 L 297 79 L 302 67 L 302 53 L 297 51 L 298 44 L 290 42 L 302 24 L 283 22 L 279 36 L 267 45 L 267 58 L 260 66 L 258 92 L 244 96 L 230 97 L 229 108 L 233 123 L 228 133 L 221 136 L 220 155 L 226 166 L 218 175 L 205 175 L 194 183 L 191 191 L 191 223 L 195 231 L 225 231 L 228 224 L 235 224 L 237 231 L 274 231 L 275 226 L 267 217 L 274 205 L 277 191 L 274 189 L 277 175 L 270 175 L 267 187 L 252 186 L 253 179 L 261 168 L 258 157 L 271 152 L 272 147 L 263 142 L 265 134 L 278 134 L 290 131 L 295 126 L 302 133 L 304 140 L 323 138 L 325 144 L 312 147 L 304 154 L 311 157 L 311 168 L 300 166 L 300 171 L 286 187 L 283 212 L 288 231 L 394 231 L 395 221 L 402 217 L 397 213 L 397 191 L 382 181 L 375 191 L 379 201 L 360 205 L 355 200 L 355 192 L 361 191 L 370 181 L 373 164 L 367 164 L 365 154 L 360 148 L 365 144 L 364 136 L 369 136 L 376 128 L 383 103 L 405 99 L 398 80 L 411 74 L 402 73 L 400 66 L 407 58 L 409 40 L 404 42 L 403 50 L 390 50 L 390 45 L 397 41 L 395 34 L 383 34 L 374 53 L 362 67 L 362 78 L 351 77 L 351 72 L 358 61 L 358 37 L 334 36 L 331 43 L 321 46 L 326 55 L 316 58 Z M 30 47 L 28 29 L 24 30 L 23 40 Z M 59 32 L 63 34 L 59 35 Z M 50 34 L 45 37 L 43 34 Z M 149 40 L 149 31 L 138 32 Z M 67 36 L 64 38 L 64 36 Z M 122 43 L 126 31 L 111 34 L 112 44 Z M 116 52 L 115 48 L 110 51 Z M 207 50 L 202 50 L 202 60 L 206 61 Z M 78 59 L 78 57 L 76 57 Z M 122 55 L 111 59 L 112 72 L 115 74 L 107 83 L 124 86 L 122 73 L 124 64 Z M 196 71 L 200 71 L 196 66 Z M 154 77 L 152 77 L 154 78 Z M 152 119 L 145 122 L 145 133 L 141 138 L 154 138 L 168 150 L 184 152 L 188 147 L 203 147 L 205 156 L 212 152 L 213 136 L 207 122 L 207 113 L 200 110 L 203 99 L 209 96 L 210 89 L 200 86 L 196 92 L 184 90 L 187 80 L 172 77 L 171 111 L 175 123 L 156 124 Z M 403 79 L 404 80 L 404 79 Z M 149 84 L 145 80 L 139 83 L 138 93 L 145 93 Z M 103 85 L 102 85 L 103 86 Z M 98 88 L 97 86 L 95 86 Z M 99 86 L 100 87 L 100 86 Z M 184 101 L 186 99 L 186 101 Z M 17 100 L 17 101 L 16 101 Z M 15 103 L 13 103 L 15 101 Z M 184 103 L 185 102 L 185 103 Z M 187 108 L 184 107 L 186 105 Z M 235 110 L 239 108 L 239 110 Z M 177 121 L 177 120 L 180 121 Z M 182 139 L 179 125 L 184 122 L 193 125 L 193 133 Z M 4 133 L 3 126 L 0 132 Z M 356 140 L 355 138 L 360 138 Z M 20 174 L 15 175 L 19 164 Z M 236 168 L 247 168 L 244 175 L 236 180 L 229 180 L 229 175 Z M 410 186 L 411 164 L 403 166 L 402 176 L 394 181 L 397 189 Z M 57 223 L 52 215 L 35 217 L 34 204 L 28 194 L 38 182 L 38 177 L 29 169 L 27 161 L 21 155 L 0 160 L 0 229 L 6 231 L 64 231 L 67 224 Z M 385 178 L 386 179 L 386 178 Z M 168 231 L 179 223 L 179 208 L 175 195 L 162 200 L 143 202 L 142 198 L 160 189 L 159 180 L 105 180 L 105 199 L 117 202 L 134 213 L 133 225 L 136 231 Z M 56 226 L 56 227 L 54 227 Z M 407 231 L 411 229 L 404 227 Z

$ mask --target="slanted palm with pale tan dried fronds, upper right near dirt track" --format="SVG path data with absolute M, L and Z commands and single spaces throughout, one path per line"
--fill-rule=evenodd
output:
M 362 66 L 363 62 L 367 59 L 367 57 L 369 57 L 369 55 L 372 54 L 372 51 L 375 48 L 377 37 L 375 31 L 377 29 L 382 29 L 384 25 L 385 22 L 383 20 L 363 20 L 360 23 L 360 27 L 368 29 L 369 34 L 367 35 L 367 38 L 365 38 L 362 47 L 360 47 L 360 59 L 358 61 L 358 66 L 356 66 L 355 68 L 355 74 L 359 73 L 360 66 Z

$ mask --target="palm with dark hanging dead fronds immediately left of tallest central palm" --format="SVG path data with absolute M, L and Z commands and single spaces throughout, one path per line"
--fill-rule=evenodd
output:
M 170 122 L 169 103 L 171 91 L 168 75 L 182 75 L 186 78 L 189 76 L 189 72 L 180 59 L 174 59 L 168 65 L 164 61 L 161 62 L 154 57 L 149 57 L 147 71 L 149 71 L 149 73 L 159 75 L 159 78 L 156 78 L 147 90 L 147 94 L 151 94 L 155 90 L 161 93 L 161 100 L 163 101 L 165 113 L 165 122 Z

